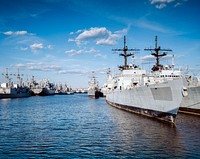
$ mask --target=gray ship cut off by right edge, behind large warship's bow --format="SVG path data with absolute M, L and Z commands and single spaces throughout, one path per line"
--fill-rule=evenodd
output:
M 183 98 L 179 112 L 200 115 L 200 79 L 187 76 L 188 96 Z

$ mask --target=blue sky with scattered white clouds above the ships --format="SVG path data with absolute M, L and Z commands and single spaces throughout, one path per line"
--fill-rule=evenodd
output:
M 78 88 L 94 71 L 102 85 L 106 70 L 123 64 L 111 50 L 123 47 L 124 35 L 129 48 L 140 49 L 135 63 L 145 69 L 155 60 L 144 48 L 153 48 L 157 35 L 177 68 L 199 75 L 199 15 L 199 0 L 0 0 L 0 72 L 19 68 L 24 79 Z

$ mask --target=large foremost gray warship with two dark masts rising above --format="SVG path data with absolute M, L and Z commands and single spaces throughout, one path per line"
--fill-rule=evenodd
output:
M 127 51 L 139 51 L 139 49 L 128 49 L 125 36 L 124 48 L 113 49 L 113 51 L 123 51 L 120 55 L 124 57 L 124 65 L 119 67 L 121 74 L 113 78 L 113 85 L 106 94 L 106 101 L 119 109 L 174 124 L 183 96 L 187 95 L 184 79 L 180 71 L 174 70 L 174 64 L 170 68 L 159 63 L 159 59 L 171 50 L 158 47 L 157 36 L 155 49 L 145 50 L 151 51 L 151 55 L 156 57 L 156 64 L 151 74 L 147 74 L 146 70 L 134 64 L 127 65 L 127 57 L 133 56 L 133 53 Z M 159 53 L 159 51 L 164 52 Z

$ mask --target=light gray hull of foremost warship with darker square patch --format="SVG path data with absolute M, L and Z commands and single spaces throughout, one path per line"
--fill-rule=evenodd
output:
M 183 80 L 114 90 L 106 95 L 111 106 L 174 123 L 183 95 Z

